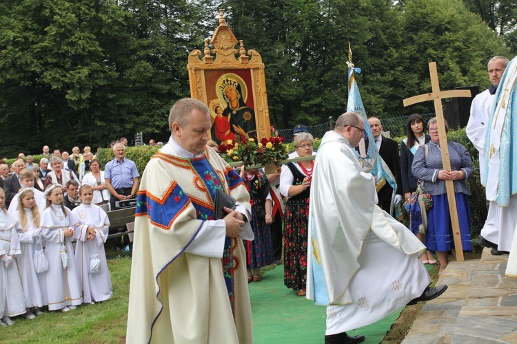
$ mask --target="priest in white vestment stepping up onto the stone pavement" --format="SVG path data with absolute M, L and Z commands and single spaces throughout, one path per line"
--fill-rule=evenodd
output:
M 363 130 L 360 115 L 341 115 L 323 136 L 312 176 L 307 299 L 327 306 L 329 344 L 359 343 L 364 336 L 346 332 L 447 288 L 428 287 L 418 259 L 425 246 L 376 205 L 374 176 L 354 152 Z

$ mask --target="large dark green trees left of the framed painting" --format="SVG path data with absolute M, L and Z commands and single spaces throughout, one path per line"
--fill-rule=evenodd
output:
M 201 43 L 190 1 L 6 0 L 0 10 L 2 154 L 138 131 L 168 138 L 168 109 L 188 96 L 187 54 Z

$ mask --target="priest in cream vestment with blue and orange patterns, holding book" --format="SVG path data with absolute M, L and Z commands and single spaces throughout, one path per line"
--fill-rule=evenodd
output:
M 210 147 L 199 100 L 172 107 L 172 136 L 145 167 L 137 197 L 127 343 L 252 343 L 242 239 L 249 195 Z M 215 193 L 236 200 L 214 218 Z M 230 213 L 228 213 L 230 211 Z

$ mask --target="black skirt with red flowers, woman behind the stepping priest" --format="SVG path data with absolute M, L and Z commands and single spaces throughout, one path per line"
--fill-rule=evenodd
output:
M 305 290 L 307 282 L 307 200 L 287 200 L 284 216 L 283 283 L 293 290 Z

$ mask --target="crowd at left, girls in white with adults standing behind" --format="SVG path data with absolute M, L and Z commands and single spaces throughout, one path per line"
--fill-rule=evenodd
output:
M 90 147 L 50 155 L 44 146 L 48 158 L 39 166 L 23 153 L 11 166 L 0 161 L 0 325 L 12 325 L 14 316 L 34 319 L 43 307 L 68 312 L 112 297 L 106 211 L 110 200 L 134 198 L 139 178 L 124 143 L 114 142 L 108 171 Z M 130 192 L 119 195 L 128 178 Z

